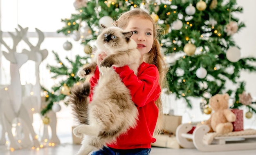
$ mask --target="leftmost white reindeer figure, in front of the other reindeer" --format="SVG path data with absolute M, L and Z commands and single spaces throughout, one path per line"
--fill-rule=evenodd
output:
M 36 148 L 40 147 L 40 143 L 37 140 L 37 135 L 34 132 L 34 128 L 32 126 L 32 120 L 29 116 L 29 113 L 25 106 L 22 104 L 22 85 L 20 83 L 20 66 L 27 62 L 29 59 L 28 55 L 25 53 L 17 53 L 16 46 L 22 39 L 22 34 L 20 31 L 16 29 L 17 35 L 13 33 L 11 38 L 13 39 L 13 48 L 11 49 L 2 39 L 2 31 L 0 31 L 0 42 L 7 48 L 9 53 L 3 51 L 4 57 L 10 61 L 10 74 L 11 74 L 11 84 L 7 86 L 7 91 L 0 90 L 0 117 L 3 126 L 3 130 L 7 132 L 9 138 L 9 146 L 10 149 L 18 149 L 24 147 L 22 144 L 22 140 L 16 140 L 16 137 L 13 136 L 11 129 L 12 129 L 12 122 L 15 119 L 21 120 L 18 123 L 22 124 L 24 127 L 24 131 L 29 131 L 32 137 L 33 146 Z M 24 34 L 23 34 L 24 35 Z M 27 129 L 27 130 L 26 130 Z M 2 132 L 1 139 L 5 140 L 5 132 Z M 0 140 L 3 142 L 4 140 Z M 25 142 L 26 143 L 26 142 Z

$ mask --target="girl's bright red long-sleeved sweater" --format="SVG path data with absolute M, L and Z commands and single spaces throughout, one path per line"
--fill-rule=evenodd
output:
M 116 144 L 108 144 L 108 146 L 116 149 L 151 148 L 151 143 L 156 141 L 153 138 L 158 115 L 155 101 L 161 92 L 157 67 L 143 62 L 139 66 L 137 76 L 128 66 L 115 68 L 115 70 L 130 89 L 132 101 L 139 111 L 139 121 L 136 128 L 120 135 Z M 92 89 L 90 100 L 98 79 L 99 69 L 96 69 L 94 76 L 90 79 Z

